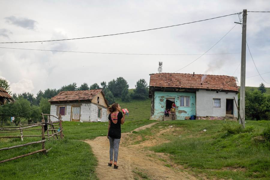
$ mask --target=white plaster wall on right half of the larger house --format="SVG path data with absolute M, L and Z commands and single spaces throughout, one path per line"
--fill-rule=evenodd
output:
M 216 92 L 216 91 L 206 91 L 199 90 L 196 91 L 196 116 L 197 117 L 225 117 L 226 116 L 226 99 L 235 98 L 236 102 L 238 102 L 238 95 L 235 92 Z M 220 99 L 221 107 L 213 107 L 213 98 Z M 238 117 L 238 111 L 233 104 L 233 114 L 234 117 Z

